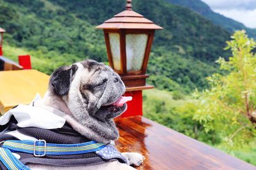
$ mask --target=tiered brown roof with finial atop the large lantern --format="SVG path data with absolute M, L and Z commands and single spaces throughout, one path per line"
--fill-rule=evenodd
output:
M 132 0 L 127 0 L 126 10 L 98 25 L 97 29 L 163 29 L 140 13 L 132 11 Z

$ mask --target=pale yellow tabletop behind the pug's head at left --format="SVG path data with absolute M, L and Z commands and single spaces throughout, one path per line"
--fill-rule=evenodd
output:
M 0 71 L 0 112 L 17 104 L 29 104 L 36 93 L 44 96 L 49 76 L 34 69 Z

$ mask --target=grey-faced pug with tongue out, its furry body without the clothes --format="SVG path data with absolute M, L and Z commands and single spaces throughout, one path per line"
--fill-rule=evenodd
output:
M 49 89 L 33 106 L 65 118 L 79 135 L 106 145 L 119 137 L 113 118 L 127 109 L 131 97 L 122 97 L 125 85 L 120 76 L 105 64 L 83 60 L 63 66 L 51 74 Z M 28 164 L 31 169 L 134 169 L 145 157 L 140 153 L 122 153 L 126 164 L 117 160 L 88 166 Z

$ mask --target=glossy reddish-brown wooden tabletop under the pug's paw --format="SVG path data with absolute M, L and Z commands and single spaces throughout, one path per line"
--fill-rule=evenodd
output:
M 256 169 L 227 153 L 144 117 L 116 120 L 120 152 L 139 152 L 146 160 L 137 169 Z

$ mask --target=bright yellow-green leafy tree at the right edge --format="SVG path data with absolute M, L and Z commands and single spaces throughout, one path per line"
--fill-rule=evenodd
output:
M 231 38 L 226 49 L 232 50 L 232 57 L 217 61 L 227 74 L 207 78 L 211 88 L 195 94 L 200 102 L 193 119 L 205 132 L 218 134 L 223 147 L 234 149 L 256 137 L 256 43 L 245 31 Z

